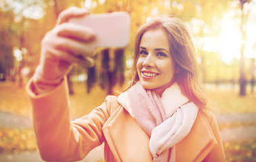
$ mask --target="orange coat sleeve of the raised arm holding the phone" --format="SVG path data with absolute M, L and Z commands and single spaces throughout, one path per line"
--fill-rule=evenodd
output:
M 34 132 L 45 161 L 78 161 L 104 140 L 102 126 L 109 118 L 107 102 L 70 122 L 68 86 L 64 80 L 51 92 L 36 95 L 26 86 L 32 104 Z

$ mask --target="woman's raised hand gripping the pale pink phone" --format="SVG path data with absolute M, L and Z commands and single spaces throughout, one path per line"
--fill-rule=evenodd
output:
M 41 42 L 41 60 L 34 75 L 36 86 L 41 89 L 54 88 L 68 73 L 72 63 L 79 63 L 86 68 L 94 65 L 93 30 L 68 23 L 70 18 L 86 15 L 86 9 L 77 7 L 70 7 L 61 12 L 55 28 L 48 32 Z

